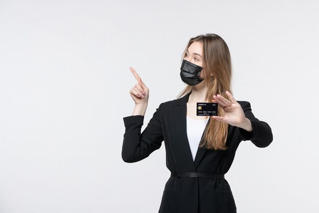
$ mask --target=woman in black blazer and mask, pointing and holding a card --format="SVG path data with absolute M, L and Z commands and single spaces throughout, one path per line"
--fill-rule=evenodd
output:
M 226 42 L 216 34 L 190 39 L 180 68 L 180 77 L 188 85 L 176 100 L 159 105 L 142 134 L 149 89 L 135 70 L 130 70 L 138 83 L 129 91 L 136 103 L 134 111 L 123 117 L 122 159 L 142 160 L 164 140 L 171 177 L 158 212 L 236 212 L 224 174 L 241 141 L 267 147 L 273 134 L 267 123 L 254 116 L 249 102 L 233 98 Z M 218 116 L 197 116 L 197 102 L 217 103 Z

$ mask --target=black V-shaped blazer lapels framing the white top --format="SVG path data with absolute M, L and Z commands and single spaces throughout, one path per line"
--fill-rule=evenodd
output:
M 185 158 L 190 163 L 190 165 L 192 165 L 192 168 L 196 172 L 198 165 L 205 154 L 206 149 L 198 147 L 195 160 L 193 161 L 192 151 L 191 151 L 189 140 L 187 137 L 187 120 L 186 120 L 187 102 L 189 100 L 190 94 L 191 92 L 186 94 L 182 98 L 176 99 L 176 107 L 174 109 L 174 122 L 178 132 L 180 133 L 178 136 L 178 139 L 179 139 L 181 149 L 185 155 Z M 209 116 L 208 123 L 209 121 L 210 121 L 210 116 Z M 207 128 L 207 125 L 205 129 L 206 128 Z M 204 132 L 202 133 L 201 139 L 203 138 L 203 136 L 204 136 Z

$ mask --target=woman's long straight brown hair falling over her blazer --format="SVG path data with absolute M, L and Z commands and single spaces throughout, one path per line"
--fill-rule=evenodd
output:
M 185 48 L 182 59 L 185 57 L 189 46 L 194 42 L 199 41 L 203 44 L 203 67 L 208 86 L 207 97 L 209 102 L 212 102 L 213 96 L 221 94 L 224 98 L 230 101 L 226 91 L 231 94 L 231 78 L 232 65 L 228 46 L 226 42 L 216 34 L 199 35 L 191 38 Z M 213 76 L 210 76 L 212 74 Z M 183 94 L 187 94 L 193 90 L 193 86 L 187 85 L 177 96 L 180 98 Z M 218 116 L 224 116 L 224 110 L 218 106 Z M 200 147 L 206 149 L 226 150 L 226 139 L 228 134 L 228 124 L 211 119 L 204 132 L 203 140 Z

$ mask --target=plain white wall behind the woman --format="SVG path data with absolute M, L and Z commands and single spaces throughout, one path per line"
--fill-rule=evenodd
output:
M 318 212 L 317 1 L 0 1 L 0 212 L 157 212 L 161 149 L 121 158 L 134 67 L 145 129 L 184 88 L 189 38 L 228 44 L 236 100 L 274 135 L 225 175 L 238 212 Z

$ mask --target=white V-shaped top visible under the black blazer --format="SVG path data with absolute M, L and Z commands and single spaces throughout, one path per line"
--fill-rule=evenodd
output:
M 187 137 L 189 139 L 190 148 L 192 151 L 193 160 L 195 160 L 195 156 L 197 153 L 198 145 L 200 142 L 200 139 L 202 137 L 202 134 L 204 132 L 204 129 L 207 125 L 207 122 L 209 120 L 194 120 L 190 117 L 187 117 Z

